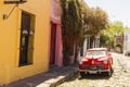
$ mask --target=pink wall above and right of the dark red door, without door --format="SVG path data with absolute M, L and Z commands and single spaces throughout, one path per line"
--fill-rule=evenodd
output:
M 50 20 L 51 22 L 56 24 L 55 64 L 62 66 L 63 46 L 62 46 L 62 29 L 61 29 L 61 5 L 60 5 L 60 0 L 51 0 L 50 2 L 51 2 Z

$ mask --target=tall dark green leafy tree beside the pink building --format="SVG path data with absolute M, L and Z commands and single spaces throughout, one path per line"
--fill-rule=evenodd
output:
M 79 44 L 82 35 L 81 5 L 79 0 L 61 0 L 62 5 L 62 37 L 63 64 L 69 64 L 74 44 Z

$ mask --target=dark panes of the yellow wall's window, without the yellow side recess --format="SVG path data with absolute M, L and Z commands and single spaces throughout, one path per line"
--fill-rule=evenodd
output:
M 28 40 L 30 29 L 30 15 L 22 12 L 21 24 L 21 48 L 20 48 L 20 66 L 28 64 Z

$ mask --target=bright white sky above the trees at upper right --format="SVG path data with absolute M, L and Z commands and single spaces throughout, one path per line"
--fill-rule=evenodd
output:
M 110 22 L 121 21 L 130 26 L 130 0 L 84 0 L 90 8 L 100 7 L 108 14 Z

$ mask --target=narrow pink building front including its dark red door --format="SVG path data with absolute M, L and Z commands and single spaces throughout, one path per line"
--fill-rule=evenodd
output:
M 63 65 L 60 0 L 50 0 L 50 65 Z

